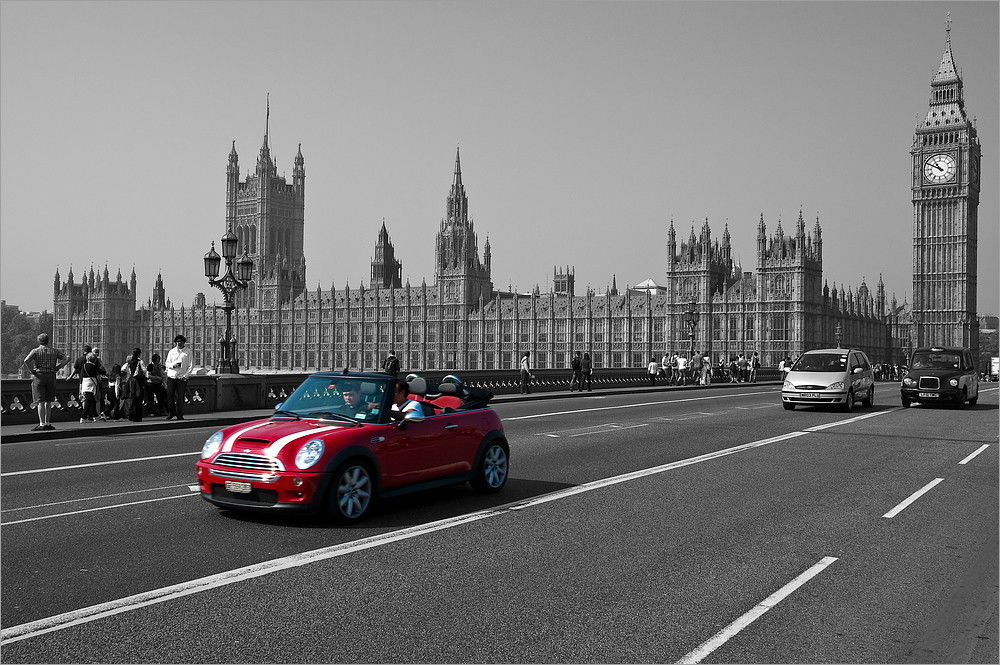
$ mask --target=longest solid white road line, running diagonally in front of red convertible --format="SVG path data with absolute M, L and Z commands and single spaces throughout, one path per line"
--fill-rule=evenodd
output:
M 680 460 L 678 462 L 663 464 L 661 466 L 653 467 L 651 469 L 634 471 L 632 473 L 626 473 L 620 476 L 614 476 L 612 478 L 605 478 L 603 480 L 594 481 L 591 483 L 587 483 L 585 485 L 578 485 L 576 487 L 564 490 L 558 490 L 550 494 L 543 494 L 541 496 L 533 497 L 531 499 L 525 499 L 523 501 L 510 503 L 503 506 L 498 506 L 496 508 L 481 510 L 475 513 L 470 513 L 468 515 L 459 515 L 458 517 L 451 517 L 439 520 L 437 522 L 430 522 L 428 524 L 420 524 L 417 526 L 408 527 L 406 529 L 400 529 L 399 531 L 393 531 L 391 533 L 371 536 L 369 538 L 363 538 L 361 540 L 356 540 L 348 543 L 341 543 L 340 545 L 332 545 L 330 547 L 324 547 L 318 550 L 300 552 L 299 554 L 293 554 L 291 556 L 282 557 L 280 559 L 263 561 L 261 563 L 253 564 L 251 566 L 236 568 L 234 570 L 217 573 L 215 575 L 210 575 L 208 577 L 202 577 L 188 582 L 182 582 L 180 584 L 174 584 L 172 586 L 136 594 L 134 596 L 119 598 L 117 600 L 101 603 L 99 605 L 92 605 L 90 607 L 84 607 L 78 610 L 73 610 L 71 612 L 57 614 L 55 616 L 39 619 L 37 621 L 31 621 L 29 623 L 20 624 L 18 626 L 11 626 L 10 628 L 4 628 L 3 630 L 0 630 L 0 645 L 10 644 L 11 642 L 18 642 L 20 640 L 28 639 L 30 637 L 37 637 L 39 635 L 44 635 L 46 633 L 51 633 L 53 631 L 62 630 L 64 628 L 69 628 L 71 626 L 89 623 L 91 621 L 96 621 L 98 619 L 103 619 L 105 617 L 114 616 L 116 614 L 121 614 L 123 612 L 129 612 L 131 610 L 138 609 L 140 607 L 146 607 L 157 603 L 163 603 L 169 600 L 173 600 L 175 598 L 181 598 L 183 596 L 189 596 L 191 594 L 200 593 L 202 591 L 209 591 L 211 589 L 225 586 L 227 584 L 242 582 L 244 580 L 253 579 L 255 577 L 261 577 L 263 575 L 268 575 L 270 573 L 278 572 L 281 570 L 287 570 L 289 568 L 296 568 L 310 563 L 325 561 L 327 559 L 343 556 L 345 554 L 359 552 L 361 550 L 370 549 L 372 547 L 379 547 L 381 545 L 388 545 L 389 543 L 394 543 L 409 538 L 415 538 L 417 536 L 422 536 L 428 533 L 433 533 L 435 531 L 449 529 L 451 527 L 460 526 L 463 524 L 469 524 L 490 517 L 498 517 L 500 515 L 508 514 L 511 511 L 524 510 L 525 508 L 529 508 L 531 506 L 537 506 L 543 503 L 548 503 L 550 501 L 555 501 L 557 499 L 563 499 L 569 496 L 573 496 L 575 494 L 581 494 L 583 492 L 589 492 L 592 490 L 600 489 L 602 487 L 607 487 L 609 485 L 624 483 L 637 478 L 651 476 L 657 473 L 663 473 L 664 471 L 669 471 L 671 469 L 677 469 L 682 466 L 688 466 L 690 464 L 705 462 L 708 460 L 715 459 L 717 457 L 732 455 L 738 452 L 742 452 L 744 450 L 758 448 L 760 446 L 765 446 L 770 443 L 777 443 L 778 441 L 784 441 L 786 439 L 793 439 L 799 436 L 803 436 L 805 434 L 806 432 L 790 432 L 788 434 L 771 437 L 769 439 L 762 439 L 760 441 L 745 443 L 743 445 L 736 446 L 734 448 L 718 450 L 713 453 L 699 455 L 698 457 L 692 457 L 690 459 Z M 188 496 L 195 496 L 195 495 L 192 494 Z

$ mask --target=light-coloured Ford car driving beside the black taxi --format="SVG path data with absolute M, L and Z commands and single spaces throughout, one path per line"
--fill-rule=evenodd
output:
M 860 400 L 875 403 L 875 374 L 860 349 L 806 351 L 792 365 L 781 386 L 781 405 L 837 406 L 853 411 Z

